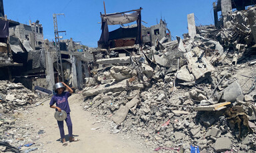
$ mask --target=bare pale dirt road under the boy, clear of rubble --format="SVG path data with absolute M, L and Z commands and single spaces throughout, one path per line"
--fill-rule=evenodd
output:
M 57 120 L 53 116 L 55 110 L 49 108 L 49 100 L 40 106 L 29 108 L 28 111 L 31 113 L 28 113 L 25 118 L 29 118 L 29 122 L 37 128 L 33 130 L 45 131 L 38 140 L 35 140 L 34 146 L 37 146 L 38 150 L 33 152 L 152 152 L 151 149 L 145 148 L 139 140 L 127 140 L 123 139 L 121 134 L 110 134 L 103 126 L 107 122 L 95 123 L 97 118 L 83 110 L 82 102 L 81 94 L 73 94 L 69 97 L 73 134 L 78 135 L 75 138 L 79 138 L 79 142 L 68 142 L 67 146 L 62 146 L 60 142 Z M 66 124 L 64 127 L 66 139 L 68 139 Z M 98 130 L 91 130 L 91 128 L 97 127 L 99 127 Z

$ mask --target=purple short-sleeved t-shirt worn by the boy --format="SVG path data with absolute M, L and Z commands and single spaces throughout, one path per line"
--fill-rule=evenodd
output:
M 65 110 L 65 112 L 69 113 L 71 110 L 69 108 L 69 102 L 67 98 L 69 98 L 71 94 L 69 92 L 62 92 L 62 94 L 55 94 L 50 101 L 50 105 L 56 103 L 56 106 L 61 108 L 61 110 Z M 56 109 L 57 111 L 57 109 Z

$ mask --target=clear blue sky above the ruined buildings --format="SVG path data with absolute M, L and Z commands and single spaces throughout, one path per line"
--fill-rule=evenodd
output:
M 146 27 L 165 19 L 171 35 L 182 37 L 187 33 L 187 14 L 195 13 L 196 25 L 214 24 L 213 2 L 216 0 L 105 0 L 107 13 L 130 11 L 142 7 L 141 19 Z M 54 40 L 53 13 L 65 13 L 57 17 L 63 39 L 73 38 L 83 45 L 97 47 L 101 35 L 100 12 L 104 13 L 102 0 L 3 0 L 8 19 L 29 24 L 37 20 L 43 25 L 44 39 Z M 119 26 L 119 25 L 118 25 Z M 110 31 L 118 27 L 109 25 Z

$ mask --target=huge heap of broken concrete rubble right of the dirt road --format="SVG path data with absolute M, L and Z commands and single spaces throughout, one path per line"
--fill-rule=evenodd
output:
M 198 27 L 194 38 L 144 46 L 130 65 L 94 70 L 84 108 L 156 151 L 255 152 L 256 31 L 247 12 L 233 13 L 224 29 Z

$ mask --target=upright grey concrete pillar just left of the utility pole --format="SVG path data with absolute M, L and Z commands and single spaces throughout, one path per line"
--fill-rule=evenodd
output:
M 54 80 L 54 70 L 53 70 L 53 55 L 51 55 L 51 52 L 45 51 L 45 60 L 46 60 L 46 80 L 48 82 L 48 90 L 53 90 L 53 85 L 55 84 Z

